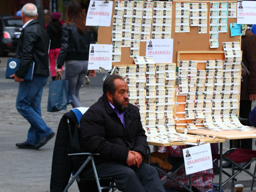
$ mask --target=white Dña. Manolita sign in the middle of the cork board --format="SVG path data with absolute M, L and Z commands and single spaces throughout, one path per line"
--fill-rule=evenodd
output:
M 146 46 L 146 57 L 155 63 L 172 63 L 173 39 L 150 39 Z

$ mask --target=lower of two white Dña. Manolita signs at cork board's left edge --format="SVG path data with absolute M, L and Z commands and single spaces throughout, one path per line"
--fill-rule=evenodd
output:
M 112 44 L 90 44 L 88 70 L 112 68 Z

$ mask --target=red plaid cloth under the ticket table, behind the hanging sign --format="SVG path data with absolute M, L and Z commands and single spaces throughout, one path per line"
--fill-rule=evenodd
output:
M 169 156 L 183 157 L 182 149 L 190 147 L 190 146 L 173 146 L 173 147 L 160 147 L 159 151 L 161 153 L 166 152 Z M 171 174 L 166 170 L 164 172 Z M 158 175 L 161 181 L 164 181 L 167 177 L 158 172 Z M 189 175 L 186 175 L 185 166 L 183 166 L 173 178 L 178 180 L 183 185 L 189 187 Z M 213 188 L 212 180 L 214 179 L 214 174 L 212 169 L 196 172 L 192 174 L 192 186 L 194 186 L 200 192 L 211 191 Z M 179 184 L 175 183 L 173 180 L 168 179 L 167 182 L 164 183 L 164 188 L 168 189 L 176 189 L 179 191 L 184 190 Z

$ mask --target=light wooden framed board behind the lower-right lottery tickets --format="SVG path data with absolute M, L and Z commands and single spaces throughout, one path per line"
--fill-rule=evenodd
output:
M 178 51 L 176 63 L 178 66 L 179 60 L 198 60 L 197 69 L 204 70 L 205 62 L 200 62 L 200 61 L 215 60 L 215 59 L 216 60 L 225 60 L 224 51 Z M 239 74 L 241 76 L 241 71 Z M 240 80 L 240 84 L 241 84 L 241 80 Z M 239 92 L 240 92 L 240 89 L 241 89 L 241 87 L 239 87 Z M 186 96 L 178 96 L 177 101 L 178 102 L 186 102 Z M 238 95 L 238 101 L 240 101 L 240 94 Z M 239 107 L 240 107 L 240 105 L 239 105 Z M 176 112 L 184 112 L 184 111 L 185 111 L 185 104 L 179 104 L 179 106 L 176 108 Z M 176 112 L 175 112 L 176 116 L 178 116 L 179 118 L 184 118 L 184 114 L 176 114 Z M 237 115 L 239 115 L 239 113 Z M 192 119 L 180 120 L 178 123 L 179 124 L 192 123 Z M 184 128 L 186 126 L 183 125 L 181 127 Z M 177 126 L 176 129 L 181 128 L 181 127 Z

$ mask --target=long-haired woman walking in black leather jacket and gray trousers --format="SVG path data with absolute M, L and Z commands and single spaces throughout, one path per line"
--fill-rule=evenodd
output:
M 61 49 L 57 60 L 57 75 L 66 61 L 66 79 L 72 93 L 74 108 L 81 107 L 79 90 L 87 74 L 89 47 L 93 43 L 92 29 L 85 26 L 85 16 L 82 7 L 76 1 L 67 6 L 66 23 L 63 24 Z M 90 78 L 95 76 L 95 70 L 90 71 Z

